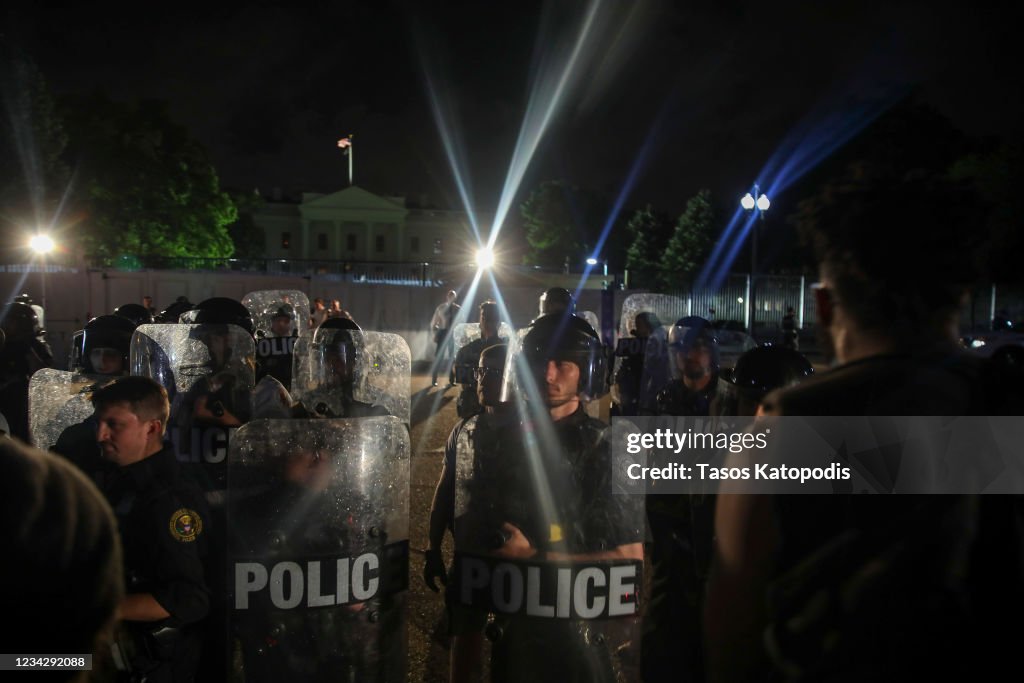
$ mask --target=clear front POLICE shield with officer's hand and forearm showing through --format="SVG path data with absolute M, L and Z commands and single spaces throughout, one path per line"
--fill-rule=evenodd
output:
M 607 432 L 481 415 L 458 435 L 453 631 L 485 633 L 502 681 L 640 680 L 643 499 L 613 490 Z

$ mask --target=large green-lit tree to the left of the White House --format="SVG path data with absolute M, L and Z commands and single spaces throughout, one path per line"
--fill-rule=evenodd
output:
M 231 256 L 238 218 L 206 151 L 159 101 L 99 94 L 66 102 L 86 253 L 101 258 Z

